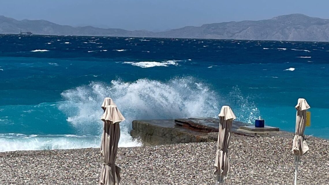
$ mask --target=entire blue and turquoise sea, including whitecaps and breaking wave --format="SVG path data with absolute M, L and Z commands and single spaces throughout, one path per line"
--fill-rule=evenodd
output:
M 98 147 L 106 96 L 126 120 L 217 117 L 329 138 L 328 42 L 0 35 L 0 151 Z

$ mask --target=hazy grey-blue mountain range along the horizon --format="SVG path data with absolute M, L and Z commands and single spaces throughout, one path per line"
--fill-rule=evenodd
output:
M 289 14 L 267 20 L 212 23 L 199 27 L 186 26 L 164 32 L 150 32 L 92 26 L 72 27 L 46 20 L 19 21 L 0 16 L 0 34 L 17 34 L 19 31 L 40 35 L 329 41 L 329 19 Z

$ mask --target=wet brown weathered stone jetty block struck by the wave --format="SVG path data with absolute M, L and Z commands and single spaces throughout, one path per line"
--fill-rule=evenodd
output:
M 143 145 L 168 145 L 176 143 L 217 141 L 219 119 L 189 118 L 162 120 L 134 120 L 130 135 L 140 139 Z M 258 137 L 254 133 L 238 131 L 240 126 L 248 125 L 234 121 L 231 132 Z

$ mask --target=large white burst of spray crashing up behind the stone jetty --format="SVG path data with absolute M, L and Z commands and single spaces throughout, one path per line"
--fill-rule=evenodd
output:
M 113 80 L 111 84 L 91 82 L 62 93 L 65 101 L 59 109 L 67 115 L 79 134 L 100 134 L 104 97 L 111 97 L 126 118 L 120 123 L 119 146 L 138 146 L 129 132 L 135 119 L 174 119 L 215 117 L 218 96 L 193 77 L 174 78 L 168 82 L 139 79 L 135 82 Z

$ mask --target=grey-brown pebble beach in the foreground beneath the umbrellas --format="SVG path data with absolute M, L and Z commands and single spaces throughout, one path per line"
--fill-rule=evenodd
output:
M 298 184 L 328 184 L 329 141 L 308 137 Z M 119 148 L 120 184 L 215 184 L 216 142 Z M 290 137 L 232 134 L 225 184 L 293 184 Z M 98 184 L 99 148 L 0 153 L 0 184 Z

